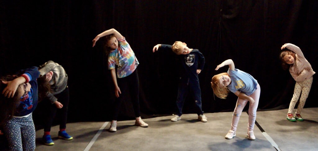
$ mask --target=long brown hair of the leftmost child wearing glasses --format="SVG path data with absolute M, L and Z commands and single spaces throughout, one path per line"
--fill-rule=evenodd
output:
M 3 84 L 2 81 L 12 81 L 17 77 L 18 76 L 16 75 L 7 75 L 5 77 L 1 77 L 0 92 L 2 92 L 5 87 L 7 87 L 7 85 Z M 20 91 L 22 91 L 22 89 L 20 88 L 20 86 L 18 86 L 13 98 L 8 98 L 5 97 L 3 94 L 0 94 L 0 125 L 2 125 L 5 120 L 12 119 L 14 113 L 16 113 L 17 106 L 20 103 L 20 98 L 18 97 Z

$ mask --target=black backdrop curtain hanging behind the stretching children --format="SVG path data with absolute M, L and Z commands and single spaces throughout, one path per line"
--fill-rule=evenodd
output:
M 39 66 L 48 60 L 62 65 L 69 76 L 68 121 L 110 120 L 114 86 L 99 33 L 115 28 L 138 58 L 142 117 L 176 110 L 177 73 L 172 51 L 152 52 L 156 44 L 183 41 L 205 57 L 199 74 L 205 112 L 233 111 L 237 97 L 213 97 L 211 77 L 226 72 L 215 67 L 231 58 L 261 86 L 259 110 L 288 108 L 295 81 L 278 59 L 281 45 L 301 48 L 314 71 L 317 67 L 318 1 L 280 0 L 116 0 L 1 1 L 0 75 Z M 314 75 L 314 77 L 316 77 Z M 317 107 L 317 80 L 305 107 Z M 245 108 L 246 110 L 247 108 Z M 34 112 L 40 123 L 41 103 Z M 188 96 L 184 113 L 195 113 Z M 122 104 L 120 119 L 133 119 L 132 105 Z M 282 115 L 284 116 L 284 115 Z

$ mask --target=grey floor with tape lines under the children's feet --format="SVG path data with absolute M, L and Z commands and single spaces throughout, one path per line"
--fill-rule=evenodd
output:
M 256 121 L 280 150 L 317 150 L 318 108 L 303 109 L 303 122 L 290 122 L 286 114 L 287 109 L 257 112 Z M 236 137 L 231 140 L 224 137 L 231 127 L 232 112 L 205 115 L 206 123 L 197 121 L 196 114 L 184 114 L 177 122 L 171 122 L 171 116 L 144 119 L 149 124 L 147 128 L 134 126 L 134 120 L 119 121 L 114 133 L 108 132 L 108 123 L 90 150 L 276 150 L 256 125 L 256 140 L 247 139 L 248 115 L 245 112 L 239 120 Z M 74 137 L 71 141 L 58 139 L 59 127 L 52 127 L 53 146 L 42 144 L 43 129 L 38 130 L 36 150 L 84 150 L 104 123 L 68 123 L 67 132 Z

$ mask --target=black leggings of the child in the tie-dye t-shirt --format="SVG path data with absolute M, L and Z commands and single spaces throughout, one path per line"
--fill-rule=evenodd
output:
M 114 102 L 114 114 L 112 120 L 117 120 L 121 102 L 124 100 L 124 98 L 127 98 L 128 93 L 130 93 L 131 96 L 131 102 L 133 103 L 135 117 L 139 117 L 139 79 L 137 69 L 127 77 L 117 78 L 117 84 L 120 88 L 121 94 L 119 94 L 119 97 L 116 98 Z

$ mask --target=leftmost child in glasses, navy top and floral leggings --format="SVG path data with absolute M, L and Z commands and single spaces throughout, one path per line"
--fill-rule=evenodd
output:
M 31 67 L 1 78 L 0 125 L 3 125 L 10 150 L 35 149 L 32 112 L 38 104 L 39 75 L 38 67 Z

